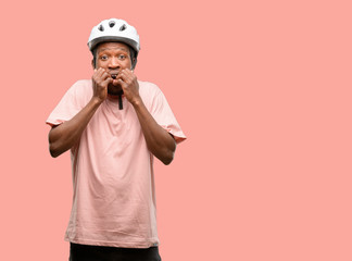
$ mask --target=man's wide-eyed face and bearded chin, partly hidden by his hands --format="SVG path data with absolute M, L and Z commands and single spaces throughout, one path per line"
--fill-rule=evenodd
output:
M 93 64 L 95 66 L 95 64 Z M 124 69 L 131 67 L 129 48 L 122 42 L 103 42 L 98 46 L 96 54 L 96 69 L 105 69 L 112 78 L 116 78 Z M 110 84 L 108 94 L 116 96 L 121 94 L 121 85 Z

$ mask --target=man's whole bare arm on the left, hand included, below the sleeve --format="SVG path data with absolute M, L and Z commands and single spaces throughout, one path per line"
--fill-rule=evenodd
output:
M 52 157 L 58 157 L 76 145 L 87 127 L 90 119 L 108 97 L 108 84 L 112 82 L 104 70 L 96 70 L 92 76 L 93 96 L 88 104 L 73 119 L 49 132 L 49 150 Z

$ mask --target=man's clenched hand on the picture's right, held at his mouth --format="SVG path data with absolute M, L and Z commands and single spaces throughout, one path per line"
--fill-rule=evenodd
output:
M 139 84 L 137 80 L 137 76 L 129 69 L 122 70 L 116 78 L 117 83 L 121 85 L 124 90 L 124 95 L 126 99 L 135 104 L 140 100 L 139 96 Z

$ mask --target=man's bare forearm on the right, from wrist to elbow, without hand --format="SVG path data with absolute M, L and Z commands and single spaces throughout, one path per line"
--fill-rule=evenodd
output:
M 148 149 L 165 165 L 169 164 L 176 150 L 175 139 L 155 122 L 141 99 L 138 99 L 133 105 L 141 125 Z

